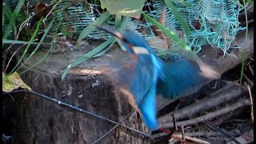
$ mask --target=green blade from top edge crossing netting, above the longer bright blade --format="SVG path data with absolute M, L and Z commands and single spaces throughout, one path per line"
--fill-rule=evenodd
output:
M 181 14 L 178 13 L 178 10 L 175 8 L 172 2 L 169 0 L 165 0 L 166 6 L 169 8 L 171 11 L 171 14 L 174 14 L 174 17 L 178 20 L 178 22 L 181 24 L 182 29 L 185 31 L 186 36 L 189 36 L 191 34 L 190 32 L 190 27 L 185 21 L 185 19 L 182 17 Z

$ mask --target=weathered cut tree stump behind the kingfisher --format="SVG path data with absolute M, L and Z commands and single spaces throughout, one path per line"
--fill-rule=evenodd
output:
M 86 43 L 82 45 L 81 50 L 66 49 L 51 54 L 46 61 L 21 74 L 21 78 L 38 93 L 49 95 L 51 98 L 56 98 L 72 106 L 78 106 L 83 110 L 120 122 L 132 110 L 127 99 L 114 90 L 114 86 L 103 82 L 102 79 L 105 79 L 103 75 L 80 73 L 81 70 L 94 70 L 94 66 L 99 67 L 112 60 L 122 61 L 126 58 L 127 53 L 118 46 L 112 46 L 106 54 L 99 58 L 82 62 L 75 69 L 70 70 L 66 78 L 61 81 L 62 72 L 66 66 L 75 58 L 92 50 L 98 43 L 100 42 Z M 46 53 L 47 50 L 39 50 L 22 66 L 22 70 L 33 66 Z M 18 105 L 18 134 L 14 135 L 14 139 L 18 139 L 18 142 L 15 143 L 92 143 L 114 126 L 113 123 L 94 118 L 77 110 L 71 110 L 65 106 L 59 106 L 57 103 L 34 94 L 26 94 L 22 101 Z M 137 112 L 134 112 L 122 124 L 147 134 L 150 133 Z M 100 143 L 147 142 L 150 142 L 149 138 L 126 130 L 122 126 L 100 141 Z

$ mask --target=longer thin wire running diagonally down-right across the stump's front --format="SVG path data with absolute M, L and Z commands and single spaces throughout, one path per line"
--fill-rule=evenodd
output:
M 102 116 L 100 116 L 100 115 L 98 115 L 98 114 L 94 114 L 94 113 L 91 113 L 91 112 L 89 112 L 89 111 L 86 111 L 86 110 L 83 110 L 83 109 L 81 109 L 81 108 L 78 108 L 77 106 L 72 106 L 72 105 L 70 105 L 70 104 L 68 104 L 68 103 L 66 103 L 66 102 L 59 101 L 59 100 L 57 100 L 57 99 L 55 99 L 55 98 L 50 98 L 49 96 L 46 96 L 45 94 L 39 94 L 39 93 L 37 93 L 37 92 L 35 92 L 35 91 L 33 91 L 33 90 L 13 90 L 13 91 L 10 91 L 10 92 L 4 92 L 4 93 L 2 93 L 2 95 L 14 94 L 14 93 L 22 93 L 22 92 L 30 93 L 30 94 L 35 94 L 35 95 L 38 95 L 38 96 L 40 96 L 40 97 L 42 97 L 42 98 L 46 98 L 47 100 L 56 102 L 56 103 L 58 103 L 58 105 L 60 105 L 60 106 L 67 106 L 67 107 L 70 107 L 71 109 L 78 110 L 78 111 L 80 111 L 80 112 L 82 112 L 82 113 L 89 114 L 89 115 L 91 115 L 91 116 L 94 116 L 94 117 L 96 117 L 96 118 L 100 118 L 100 119 L 105 120 L 105 121 L 107 121 L 107 122 L 111 122 L 111 123 L 114 123 L 114 124 L 118 124 L 118 122 L 115 122 L 115 121 L 113 121 L 113 120 L 111 120 L 111 119 L 109 119 L 109 118 L 104 118 L 104 117 L 102 117 Z M 128 129 L 128 130 L 132 130 L 132 131 L 134 131 L 134 132 L 136 132 L 136 133 L 138 133 L 138 134 L 142 134 L 142 135 L 146 136 L 147 138 L 152 138 L 152 137 L 150 136 L 150 134 L 145 134 L 145 133 L 143 133 L 143 132 L 141 132 L 141 131 L 134 130 L 133 128 L 130 128 L 130 127 L 125 126 L 125 125 L 122 125 L 122 124 L 121 124 L 120 126 L 125 127 L 125 128 Z M 153 139 L 153 138 L 152 138 L 152 139 Z

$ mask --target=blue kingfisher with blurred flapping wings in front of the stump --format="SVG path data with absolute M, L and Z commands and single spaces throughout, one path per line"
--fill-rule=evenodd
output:
M 142 115 L 150 130 L 158 130 L 157 95 L 180 98 L 218 78 L 217 71 L 199 58 L 190 56 L 190 52 L 182 51 L 178 60 L 164 62 L 141 35 L 129 30 L 119 32 L 110 26 L 97 27 L 118 38 L 130 54 L 128 61 L 117 62 L 106 71 L 106 75 L 132 95 L 132 106 Z

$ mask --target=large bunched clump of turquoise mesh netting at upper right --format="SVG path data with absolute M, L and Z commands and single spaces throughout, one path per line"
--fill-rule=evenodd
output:
M 191 35 L 185 35 L 182 38 L 183 41 L 196 51 L 201 50 L 203 45 L 210 44 L 222 49 L 226 54 L 226 50 L 230 48 L 238 30 L 243 29 L 238 22 L 240 11 L 238 6 L 228 0 L 202 0 L 200 2 L 190 0 L 186 2 L 191 3 L 192 6 L 186 7 L 174 3 L 191 30 Z M 155 10 L 150 11 L 150 14 L 158 19 L 165 3 L 154 1 L 153 6 Z M 176 34 L 179 34 L 177 30 L 181 30 L 178 20 L 168 9 L 166 10 L 166 26 Z

